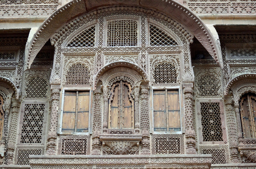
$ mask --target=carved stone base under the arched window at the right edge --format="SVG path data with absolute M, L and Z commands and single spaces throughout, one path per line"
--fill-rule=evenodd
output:
M 241 157 L 246 157 L 248 160 L 250 160 L 252 163 L 256 162 L 256 145 L 239 145 L 238 150 L 240 152 Z

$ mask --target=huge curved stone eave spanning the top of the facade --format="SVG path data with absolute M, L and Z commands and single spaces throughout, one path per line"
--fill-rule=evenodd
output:
M 33 38 L 29 41 L 26 50 L 27 68 L 31 66 L 37 53 L 42 46 L 50 39 L 54 33 L 65 25 L 70 19 L 73 19 L 82 13 L 94 11 L 97 14 L 97 8 L 110 6 L 126 6 L 128 8 L 139 7 L 138 9 L 153 9 L 157 13 L 164 13 L 167 17 L 174 18 L 189 30 L 202 43 L 209 54 L 216 62 L 223 67 L 221 51 L 217 41 L 210 33 L 203 21 L 188 8 L 175 2 L 174 0 L 135 0 L 135 1 L 94 1 L 94 0 L 73 0 L 67 5 L 56 10 L 44 23 L 38 28 Z M 165 18 L 164 18 L 165 19 Z

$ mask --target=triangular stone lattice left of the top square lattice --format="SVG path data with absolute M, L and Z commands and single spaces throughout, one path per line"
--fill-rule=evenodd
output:
M 67 47 L 93 47 L 94 41 L 95 26 L 92 26 L 74 37 Z

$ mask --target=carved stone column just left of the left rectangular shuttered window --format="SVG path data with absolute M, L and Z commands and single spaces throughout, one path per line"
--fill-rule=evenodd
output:
M 59 98 L 60 98 L 60 86 L 56 85 L 54 88 L 51 87 L 51 101 L 50 101 L 50 110 L 51 110 L 51 122 L 50 130 L 47 137 L 47 155 L 56 155 L 57 152 L 57 125 L 58 125 L 58 116 L 59 116 Z

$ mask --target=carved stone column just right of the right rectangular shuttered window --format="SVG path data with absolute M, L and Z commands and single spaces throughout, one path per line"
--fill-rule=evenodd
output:
M 186 154 L 197 154 L 196 132 L 194 127 L 194 115 L 192 109 L 193 83 L 183 83 L 184 113 L 185 113 L 185 137 Z

